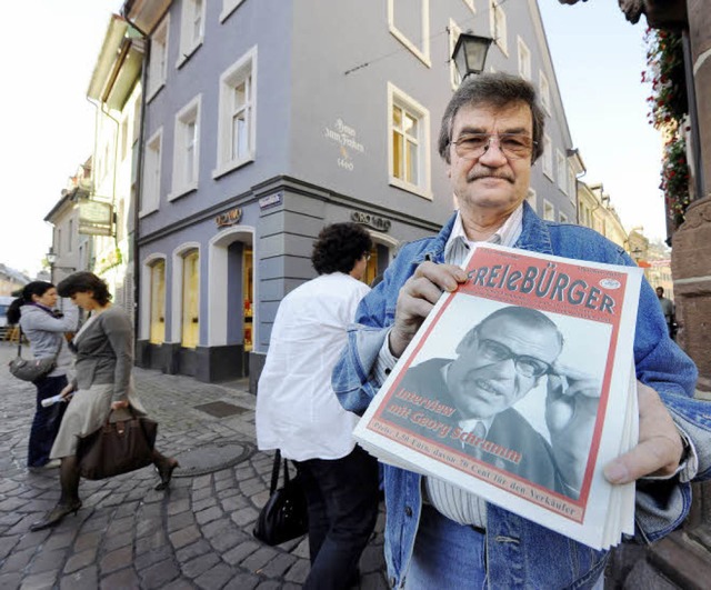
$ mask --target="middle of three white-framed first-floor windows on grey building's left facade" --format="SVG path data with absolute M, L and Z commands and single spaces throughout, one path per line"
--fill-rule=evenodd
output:
M 198 94 L 176 114 L 173 184 L 168 200 L 198 188 L 200 167 L 200 103 Z

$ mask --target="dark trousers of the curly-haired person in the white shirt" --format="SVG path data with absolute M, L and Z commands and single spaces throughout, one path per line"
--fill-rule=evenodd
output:
M 378 461 L 356 447 L 341 459 L 298 461 L 309 506 L 311 571 L 306 589 L 343 589 L 378 518 Z

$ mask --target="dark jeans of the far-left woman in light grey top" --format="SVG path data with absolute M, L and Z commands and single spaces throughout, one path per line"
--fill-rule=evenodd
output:
M 67 409 L 67 403 L 53 403 L 49 408 L 42 408 L 41 401 L 59 394 L 67 387 L 67 377 L 44 377 L 34 383 L 37 387 L 37 404 L 34 419 L 30 430 L 30 442 L 28 446 L 28 467 L 42 467 L 49 461 L 49 452 L 52 450 L 54 438 L 62 423 L 62 416 Z

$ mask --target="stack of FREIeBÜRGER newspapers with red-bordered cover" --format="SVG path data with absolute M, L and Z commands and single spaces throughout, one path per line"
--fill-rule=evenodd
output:
M 444 293 L 353 434 L 594 549 L 634 532 L 634 484 L 602 469 L 638 441 L 642 271 L 494 244 Z

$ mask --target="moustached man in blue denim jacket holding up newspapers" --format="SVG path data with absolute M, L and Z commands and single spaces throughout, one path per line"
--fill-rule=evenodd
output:
M 543 124 L 535 90 L 518 77 L 484 73 L 457 90 L 442 119 L 439 151 L 459 211 L 438 236 L 405 244 L 361 302 L 359 326 L 350 331 L 333 372 L 333 389 L 344 408 L 365 410 L 441 293 L 467 280 L 459 264 L 474 242 L 634 264 L 594 231 L 542 221 L 525 202 L 531 167 L 542 153 Z M 503 357 L 491 363 L 511 362 Z M 705 461 L 710 442 L 708 427 L 693 420 L 689 399 L 697 369 L 669 339 L 648 283 L 640 294 L 634 360 L 639 444 L 608 464 L 605 477 L 612 483 L 645 478 L 638 482 L 637 522 L 640 538 L 654 540 L 685 518 L 689 481 L 697 476 L 694 444 Z M 574 429 L 565 430 L 572 448 Z M 660 484 L 659 478 L 668 481 Z M 602 588 L 604 551 L 437 478 L 384 466 L 384 489 L 385 559 L 393 587 Z

